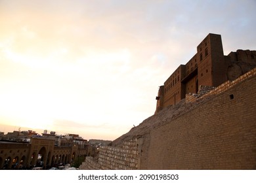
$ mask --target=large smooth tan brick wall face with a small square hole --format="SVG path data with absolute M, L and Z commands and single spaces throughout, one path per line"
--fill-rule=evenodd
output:
M 255 73 L 225 82 L 198 107 L 152 130 L 141 167 L 256 169 Z

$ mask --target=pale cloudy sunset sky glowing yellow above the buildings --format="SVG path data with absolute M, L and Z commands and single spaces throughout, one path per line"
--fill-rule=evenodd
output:
M 220 34 L 256 50 L 256 1 L 0 0 L 0 131 L 114 140 L 156 110 L 158 87 Z

